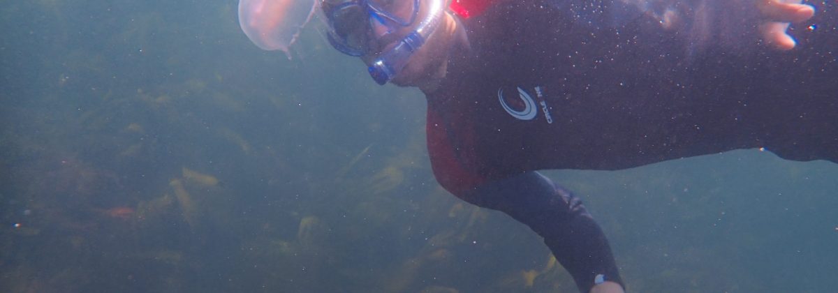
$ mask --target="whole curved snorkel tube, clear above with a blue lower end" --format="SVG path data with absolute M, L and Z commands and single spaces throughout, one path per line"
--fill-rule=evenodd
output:
M 411 55 L 422 47 L 422 44 L 425 44 L 427 38 L 439 26 L 443 14 L 442 6 L 445 1 L 431 1 L 433 3 L 431 3 L 427 18 L 422 19 L 422 23 L 419 23 L 416 30 L 408 34 L 404 39 L 401 39 L 401 42 L 396 44 L 396 47 L 381 54 L 367 68 L 372 79 L 379 85 L 385 85 L 388 81 L 396 77 L 396 74 L 405 68 L 407 60 L 411 58 Z

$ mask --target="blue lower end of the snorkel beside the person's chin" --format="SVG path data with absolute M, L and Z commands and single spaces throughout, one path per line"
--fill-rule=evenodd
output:
M 388 81 L 393 80 L 396 74 L 405 68 L 407 59 L 410 59 L 411 54 L 416 52 L 416 49 L 425 44 L 425 38 L 421 34 L 413 32 L 405 39 L 396 45 L 395 48 L 387 51 L 379 58 L 372 62 L 367 71 L 370 76 L 379 85 L 385 85 Z

